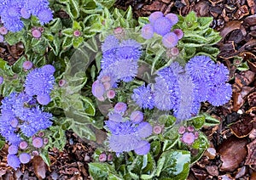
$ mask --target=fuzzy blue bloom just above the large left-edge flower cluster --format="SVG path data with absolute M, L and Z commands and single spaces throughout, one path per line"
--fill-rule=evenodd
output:
M 55 77 L 49 73 L 49 70 L 38 68 L 32 70 L 27 76 L 25 81 L 25 92 L 30 95 L 49 94 L 53 89 Z

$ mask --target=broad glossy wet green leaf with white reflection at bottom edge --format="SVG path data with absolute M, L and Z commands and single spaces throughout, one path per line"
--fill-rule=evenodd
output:
M 185 150 L 169 150 L 157 161 L 156 176 L 159 179 L 185 180 L 189 175 L 190 153 Z

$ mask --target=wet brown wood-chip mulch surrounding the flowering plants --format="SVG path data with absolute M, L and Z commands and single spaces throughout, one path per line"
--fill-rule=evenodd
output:
M 220 120 L 216 127 L 203 128 L 211 142 L 205 155 L 191 167 L 189 179 L 256 179 L 256 2 L 253 0 L 117 0 L 117 8 L 134 10 L 134 16 L 148 16 L 154 11 L 186 15 L 194 10 L 198 16 L 212 16 L 212 28 L 223 37 L 218 43 L 218 61 L 230 69 L 233 97 L 230 104 L 202 110 Z M 12 65 L 22 45 L 0 44 L 0 58 Z M 247 62 L 249 70 L 236 70 L 236 56 Z M 47 168 L 40 158 L 14 172 L 6 168 L 6 152 L 0 152 L 0 177 L 3 179 L 90 179 L 88 162 L 94 149 L 73 132 L 67 132 L 63 152 L 49 152 L 52 166 Z M 33 165 L 40 165 L 33 168 Z M 36 173 L 36 174 L 35 174 Z M 36 176 L 37 175 L 37 176 Z

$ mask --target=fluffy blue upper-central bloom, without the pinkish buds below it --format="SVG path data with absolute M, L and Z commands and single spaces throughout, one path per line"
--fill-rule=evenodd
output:
M 131 82 L 137 75 L 137 61 L 141 56 L 141 45 L 131 39 L 119 42 L 108 36 L 102 44 L 102 72 L 100 76 L 112 73 L 114 82 Z

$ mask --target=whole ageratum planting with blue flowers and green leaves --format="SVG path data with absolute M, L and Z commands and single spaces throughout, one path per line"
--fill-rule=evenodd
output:
M 212 18 L 154 12 L 138 20 L 113 0 L 3 1 L 0 42 L 24 47 L 0 59 L 0 133 L 17 169 L 71 130 L 97 149 L 95 179 L 185 179 L 218 124 L 201 103 L 230 100 L 216 61 Z M 106 134 L 98 143 L 97 132 Z M 99 133 L 100 134 L 100 133 Z M 98 134 L 97 134 L 98 135 Z M 191 153 L 191 152 L 197 153 Z

